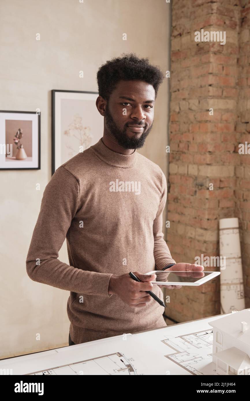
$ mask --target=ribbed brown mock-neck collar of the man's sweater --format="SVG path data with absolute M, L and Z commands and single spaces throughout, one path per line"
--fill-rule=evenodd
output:
M 136 149 L 130 155 L 117 153 L 104 145 L 102 138 L 95 145 L 90 146 L 90 148 L 101 160 L 111 166 L 124 168 L 132 167 L 137 159 Z

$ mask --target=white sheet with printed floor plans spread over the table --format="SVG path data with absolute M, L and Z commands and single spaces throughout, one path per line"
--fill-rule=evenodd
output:
M 215 375 L 208 322 L 218 318 L 8 358 L 0 369 L 12 375 Z

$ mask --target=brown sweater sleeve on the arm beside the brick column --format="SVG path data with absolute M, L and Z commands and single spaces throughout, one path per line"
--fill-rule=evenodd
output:
M 162 270 L 167 265 L 170 265 L 171 263 L 176 263 L 176 261 L 171 256 L 169 247 L 167 246 L 167 243 L 164 240 L 164 235 L 162 232 L 163 210 L 165 208 L 166 201 L 167 201 L 167 180 L 166 180 L 165 175 L 162 172 L 161 200 L 160 200 L 157 215 L 156 215 L 156 217 L 154 219 L 154 223 L 153 223 L 154 260 L 155 260 L 155 269 L 156 270 Z

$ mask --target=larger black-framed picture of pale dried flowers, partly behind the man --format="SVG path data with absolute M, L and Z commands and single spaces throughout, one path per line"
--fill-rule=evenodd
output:
M 98 92 L 52 90 L 52 175 L 103 136 Z

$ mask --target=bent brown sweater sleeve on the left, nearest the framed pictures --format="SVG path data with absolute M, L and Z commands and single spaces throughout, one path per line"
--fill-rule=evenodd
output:
M 28 255 L 26 271 L 30 279 L 80 294 L 111 297 L 109 273 L 85 271 L 58 259 L 71 221 L 79 205 L 77 178 L 63 166 L 47 184 Z

